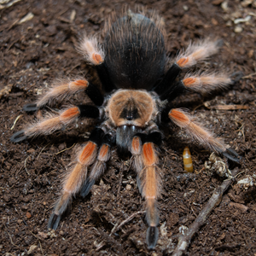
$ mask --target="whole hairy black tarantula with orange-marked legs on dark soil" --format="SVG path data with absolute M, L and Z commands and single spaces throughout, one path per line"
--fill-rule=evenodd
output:
M 158 167 L 158 151 L 163 138 L 159 129 L 161 122 L 172 121 L 210 150 L 224 154 L 230 160 L 239 160 L 239 155 L 222 139 L 203 128 L 194 117 L 182 109 L 172 108 L 170 104 L 186 90 L 209 92 L 232 83 L 227 75 L 219 73 L 188 74 L 176 81 L 184 68 L 217 53 L 218 42 L 206 40 L 190 44 L 166 71 L 164 35 L 163 21 L 157 15 L 147 18 L 128 10 L 124 17 L 108 22 L 102 47 L 96 38 L 86 37 L 79 45 L 79 51 L 96 67 L 104 96 L 96 85 L 77 79 L 55 84 L 38 102 L 24 107 L 25 111 L 36 111 L 80 91 L 85 91 L 94 103 L 71 106 L 16 132 L 11 137 L 15 143 L 28 137 L 50 134 L 80 117 L 100 121 L 67 173 L 61 197 L 49 218 L 49 228 L 57 228 L 73 195 L 79 191 L 82 196 L 88 195 L 96 179 L 105 172 L 106 162 L 116 145 L 120 155 L 132 155 L 138 188 L 146 201 L 147 244 L 148 248 L 154 248 L 159 234 L 157 199 L 161 191 Z

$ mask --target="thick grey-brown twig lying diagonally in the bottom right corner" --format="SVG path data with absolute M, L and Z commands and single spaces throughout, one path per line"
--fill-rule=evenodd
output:
M 232 176 L 235 177 L 237 172 L 238 168 L 234 169 Z M 181 256 L 187 251 L 192 237 L 201 228 L 201 226 L 206 223 L 210 212 L 212 212 L 212 210 L 222 201 L 224 191 L 230 187 L 232 181 L 233 180 L 231 179 L 224 180 L 224 182 L 217 189 L 214 189 L 212 197 L 207 202 L 207 205 L 201 210 L 200 214 L 197 216 L 197 218 L 195 218 L 195 221 L 190 225 L 185 234 L 178 237 L 177 247 L 172 253 L 172 256 Z

